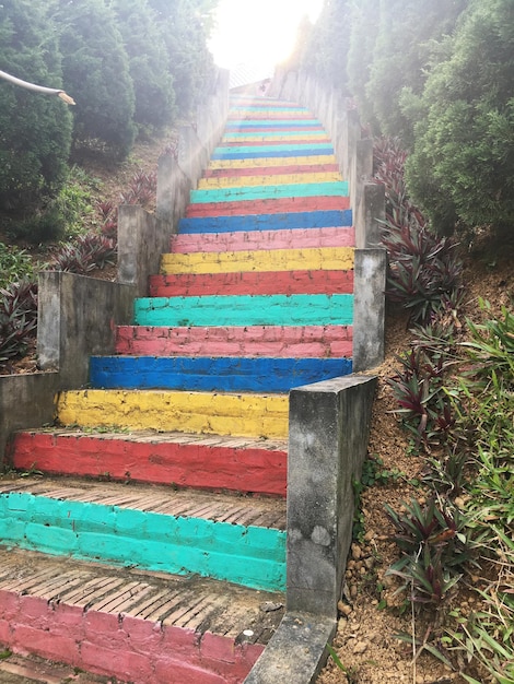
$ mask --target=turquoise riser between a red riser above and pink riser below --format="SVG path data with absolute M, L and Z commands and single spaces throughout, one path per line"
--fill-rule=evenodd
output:
M 350 326 L 353 295 L 143 297 L 139 326 Z

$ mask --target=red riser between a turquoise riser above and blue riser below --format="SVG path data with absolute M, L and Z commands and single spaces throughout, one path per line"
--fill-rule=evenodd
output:
M 349 197 L 295 197 L 293 199 L 244 200 L 241 202 L 198 202 L 188 205 L 186 216 L 188 219 L 194 216 L 247 216 L 349 208 Z

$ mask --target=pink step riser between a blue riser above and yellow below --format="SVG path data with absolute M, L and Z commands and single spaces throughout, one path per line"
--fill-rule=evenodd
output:
M 174 235 L 170 251 L 245 251 L 254 249 L 303 249 L 353 247 L 355 231 L 350 226 L 296 231 L 252 231 L 247 233 L 199 233 Z

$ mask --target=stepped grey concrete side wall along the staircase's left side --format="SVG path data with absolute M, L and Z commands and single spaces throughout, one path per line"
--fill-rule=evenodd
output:
M 132 318 L 135 297 L 147 294 L 161 253 L 189 201 L 229 113 L 229 72 L 220 70 L 196 121 L 183 126 L 176 158 L 159 162 L 155 216 L 124 205 L 118 216 L 118 281 L 45 272 L 39 276 L 37 356 L 40 372 L 0 377 L 0 464 L 19 429 L 51 423 L 56 392 L 87 382 L 90 356 L 114 351 L 116 326 Z M 189 154 L 191 156 L 189 156 Z

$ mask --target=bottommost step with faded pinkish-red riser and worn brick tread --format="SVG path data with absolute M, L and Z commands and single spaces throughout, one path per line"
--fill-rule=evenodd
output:
M 243 682 L 282 594 L 0 547 L 0 642 L 133 684 Z

